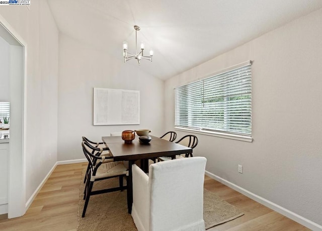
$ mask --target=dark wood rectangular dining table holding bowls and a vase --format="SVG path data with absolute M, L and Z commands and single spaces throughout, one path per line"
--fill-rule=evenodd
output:
M 192 149 L 177 143 L 173 143 L 155 136 L 149 143 L 144 144 L 139 141 L 138 136 L 132 143 L 125 143 L 121 136 L 102 137 L 109 152 L 113 155 L 114 161 L 128 161 L 127 178 L 127 207 L 128 213 L 132 212 L 133 185 L 132 185 L 132 165 L 135 161 L 140 161 L 140 167 L 144 172 L 148 172 L 148 160 L 158 157 L 176 158 L 176 155 L 191 154 Z

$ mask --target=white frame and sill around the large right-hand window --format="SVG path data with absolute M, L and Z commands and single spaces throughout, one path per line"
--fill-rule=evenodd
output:
M 231 132 L 231 131 L 227 131 L 227 129 L 224 131 L 224 129 L 221 129 L 221 130 L 218 130 L 218 129 L 206 129 L 206 128 L 198 128 L 198 126 L 196 127 L 184 127 L 184 126 L 178 126 L 176 125 L 176 122 L 178 120 L 178 116 L 177 116 L 177 104 L 178 104 L 178 101 L 177 101 L 177 94 L 175 92 L 175 98 L 174 98 L 174 101 L 175 101 L 175 127 L 174 129 L 175 130 L 179 130 L 179 131 L 184 131 L 184 132 L 190 132 L 190 133 L 196 133 L 196 134 L 202 134 L 202 135 L 209 135 L 209 136 L 216 136 L 216 137 L 222 137 L 222 138 L 228 138 L 228 139 L 233 139 L 233 140 L 240 140 L 240 141 L 246 141 L 246 142 L 252 142 L 253 141 L 253 138 L 252 138 L 252 61 L 249 60 L 249 61 L 246 61 L 246 62 L 243 62 L 243 63 L 240 63 L 240 64 L 237 64 L 237 65 L 234 65 L 234 66 L 231 66 L 231 67 L 228 67 L 228 68 L 225 68 L 223 70 L 220 70 L 220 71 L 217 71 L 215 73 L 212 73 L 210 75 L 207 75 L 207 76 L 204 76 L 202 78 L 199 78 L 197 79 L 196 81 L 193 81 L 193 82 L 190 82 L 190 83 L 187 83 L 185 85 L 181 85 L 181 86 L 178 86 L 178 87 L 175 87 L 175 91 L 177 88 L 182 88 L 182 87 L 187 87 L 189 88 L 190 86 L 193 86 L 193 84 L 198 84 L 198 82 L 202 82 L 202 84 L 204 84 L 205 81 L 207 81 L 207 79 L 211 79 L 213 77 L 213 79 L 215 79 L 216 76 L 219 76 L 219 75 L 223 75 L 223 74 L 227 74 L 233 70 L 236 70 L 236 69 L 241 69 L 243 67 L 247 67 L 247 66 L 250 66 L 250 78 L 248 78 L 250 80 L 250 92 L 248 94 L 250 94 L 250 98 L 249 98 L 249 95 L 247 96 L 247 99 L 248 99 L 248 105 L 250 106 L 250 116 L 249 116 L 249 124 L 250 124 L 250 131 L 248 131 L 249 134 L 246 134 L 246 132 L 244 133 L 238 133 L 238 132 Z M 216 81 L 216 80 L 214 80 Z M 227 85 L 227 82 L 225 82 L 225 84 Z M 202 100 L 204 100 L 204 93 L 205 92 L 205 89 L 203 88 L 202 89 L 202 96 L 199 96 L 199 93 L 196 93 L 198 96 L 197 97 L 201 97 Z M 210 94 L 211 95 L 211 94 Z M 231 97 L 231 95 L 229 96 L 225 96 L 224 98 L 226 98 L 227 100 L 227 97 Z M 189 100 L 189 99 L 187 99 Z M 223 99 L 222 100 L 222 103 L 225 104 L 225 101 Z M 179 101 L 179 103 L 182 103 L 182 101 Z M 205 101 L 203 101 L 204 103 Z M 225 106 L 223 106 L 224 108 L 228 108 L 229 106 L 229 103 L 228 104 L 225 104 Z M 197 106 L 198 107 L 198 106 Z M 203 111 L 204 112 L 204 111 Z M 225 112 L 225 110 L 223 110 L 223 112 Z M 188 111 L 187 110 L 187 113 L 193 113 L 191 111 Z M 234 117 L 231 117 L 231 119 L 233 119 Z M 182 119 L 182 118 L 180 118 Z M 227 120 L 227 111 L 226 113 L 224 113 L 224 117 L 223 117 L 223 120 Z M 205 120 L 206 121 L 206 120 Z M 188 120 L 187 124 L 189 123 L 190 121 Z M 200 123 L 203 125 L 203 123 Z M 221 123 L 221 126 L 224 126 L 225 123 Z M 227 126 L 227 124 L 226 124 Z

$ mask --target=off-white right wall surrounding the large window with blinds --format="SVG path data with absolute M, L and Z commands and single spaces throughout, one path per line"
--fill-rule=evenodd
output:
M 322 225 L 322 10 L 166 81 L 167 130 L 174 90 L 223 68 L 254 60 L 252 143 L 198 135 L 194 154 L 206 170 Z M 205 48 L 206 49 L 206 48 Z M 184 133 L 179 133 L 179 137 Z M 243 174 L 237 165 L 243 165 Z

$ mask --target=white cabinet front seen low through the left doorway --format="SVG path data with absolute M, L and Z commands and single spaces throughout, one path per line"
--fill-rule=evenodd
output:
M 0 214 L 8 213 L 9 143 L 0 143 Z

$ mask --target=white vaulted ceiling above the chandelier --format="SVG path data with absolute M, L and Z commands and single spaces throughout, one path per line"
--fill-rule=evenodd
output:
M 167 79 L 322 8 L 321 0 L 48 0 L 61 33 L 123 61 L 122 43 L 138 43 L 153 62 L 135 60 Z M 139 44 L 138 44 L 139 45 Z

